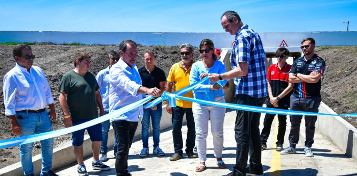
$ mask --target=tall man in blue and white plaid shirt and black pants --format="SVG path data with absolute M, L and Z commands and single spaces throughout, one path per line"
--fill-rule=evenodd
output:
M 236 35 L 232 49 L 232 70 L 222 74 L 210 74 L 210 81 L 234 79 L 236 103 L 262 107 L 268 96 L 266 57 L 258 33 L 243 24 L 237 12 L 226 11 L 221 16 L 226 32 Z M 233 172 L 228 175 L 263 175 L 261 162 L 260 114 L 237 111 L 235 138 L 237 158 Z M 250 155 L 249 167 L 247 166 Z

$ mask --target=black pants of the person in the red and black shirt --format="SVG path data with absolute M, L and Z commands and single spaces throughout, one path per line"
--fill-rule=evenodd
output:
M 267 108 L 276 108 L 276 107 L 267 105 Z M 288 108 L 286 108 L 286 107 L 278 107 L 276 109 L 288 110 Z M 262 133 L 260 134 L 260 139 L 262 140 L 262 143 L 267 143 L 267 140 L 268 140 L 269 134 L 270 134 L 271 124 L 273 123 L 275 115 L 276 114 L 265 114 L 265 118 L 264 118 L 264 122 L 263 122 L 264 128 L 262 130 Z M 278 127 L 278 131 L 277 131 L 276 144 L 283 144 L 285 131 L 286 131 L 286 115 L 278 114 L 277 119 L 279 120 L 279 127 Z

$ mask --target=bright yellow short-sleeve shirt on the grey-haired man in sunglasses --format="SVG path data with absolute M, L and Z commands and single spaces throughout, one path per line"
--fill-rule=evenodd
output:
M 167 82 L 173 83 L 174 92 L 190 85 L 190 81 L 189 81 L 190 71 L 191 71 L 191 67 L 188 68 L 187 70 L 185 70 L 185 68 L 182 67 L 182 61 L 172 65 L 169 71 L 169 75 L 167 76 Z M 192 90 L 182 96 L 192 98 L 193 97 Z M 188 102 L 176 98 L 176 106 L 182 108 L 192 108 L 192 102 Z

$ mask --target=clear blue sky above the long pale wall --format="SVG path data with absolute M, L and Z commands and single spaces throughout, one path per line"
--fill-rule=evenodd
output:
M 5 1 L 0 31 L 224 32 L 238 12 L 257 32 L 357 31 L 357 1 Z

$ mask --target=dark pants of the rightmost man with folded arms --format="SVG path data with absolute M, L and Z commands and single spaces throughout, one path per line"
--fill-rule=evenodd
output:
M 290 110 L 306 111 L 306 112 L 319 112 L 321 97 L 313 96 L 309 98 L 298 98 L 294 95 L 290 96 Z M 300 123 L 301 115 L 291 115 L 290 123 L 291 129 L 289 134 L 289 142 L 291 147 L 296 147 L 300 137 Z M 315 136 L 315 122 L 317 116 L 305 115 L 305 146 L 311 147 L 314 143 Z

